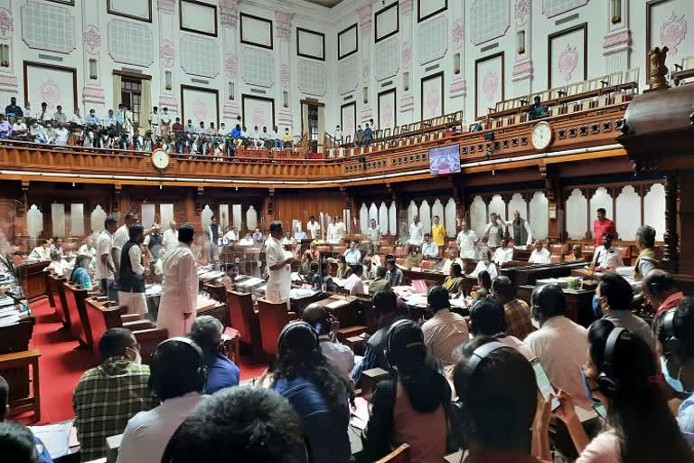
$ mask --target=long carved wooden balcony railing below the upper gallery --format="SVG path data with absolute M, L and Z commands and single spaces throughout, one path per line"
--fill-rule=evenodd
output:
M 105 181 L 128 176 L 121 181 L 176 181 L 176 182 L 230 182 L 283 181 L 318 184 L 368 175 L 423 175 L 428 171 L 430 148 L 459 145 L 463 172 L 491 170 L 499 165 L 543 165 L 550 162 L 577 160 L 579 148 L 612 146 L 620 134 L 626 104 L 605 109 L 590 109 L 573 114 L 545 118 L 552 128 L 554 141 L 550 146 L 555 155 L 545 154 L 531 143 L 535 122 L 526 122 L 507 128 L 496 128 L 473 133 L 438 132 L 417 137 L 408 144 L 369 146 L 353 152 L 352 156 L 331 159 L 304 159 L 273 155 L 274 157 L 215 158 L 212 156 L 171 155 L 171 163 L 160 173 L 151 163 L 148 153 L 79 149 L 74 146 L 41 146 L 31 143 L 5 142 L 0 145 L 0 170 L 5 175 L 53 177 L 65 182 L 74 181 L 71 175 L 94 175 Z M 491 137 L 493 134 L 493 139 Z M 307 137 L 302 140 L 307 143 Z M 353 149 L 353 148 L 352 148 Z M 565 154 L 566 156 L 556 156 Z M 532 156 L 538 155 L 538 156 Z M 551 153 L 550 153 L 551 155 Z M 291 155 L 286 155 L 291 156 Z M 612 155 L 614 156 L 614 155 Z M 480 165 L 480 162 L 483 162 Z

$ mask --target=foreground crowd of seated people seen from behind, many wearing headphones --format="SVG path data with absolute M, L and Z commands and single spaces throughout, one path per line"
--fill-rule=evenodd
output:
M 350 432 L 361 432 L 358 461 L 401 444 L 413 462 L 456 451 L 472 462 L 558 454 L 580 463 L 694 461 L 694 299 L 671 275 L 652 269 L 641 282 L 658 311 L 650 326 L 630 310 L 632 286 L 605 272 L 586 329 L 567 317 L 557 285 L 535 288 L 530 308 L 511 279 L 488 273 L 469 318 L 455 313 L 447 288 L 434 286 L 424 319 L 412 319 L 383 269 L 363 357 L 337 341 L 329 310 L 312 304 L 282 330 L 277 360 L 258 385 L 239 385 L 215 318 L 198 317 L 188 336 L 158 345 L 148 366 L 130 331 L 109 329 L 98 342 L 101 363 L 73 393 L 82 461 L 103 457 L 106 438 L 122 434 L 119 463 L 231 455 L 353 462 Z M 352 266 L 352 275 L 361 272 Z M 551 395 L 539 393 L 539 367 Z M 354 393 L 373 368 L 389 377 L 367 397 L 360 431 L 350 424 Z M 0 381 L 0 402 L 6 390 Z M 0 424 L 0 454 L 51 461 L 43 450 L 23 425 Z

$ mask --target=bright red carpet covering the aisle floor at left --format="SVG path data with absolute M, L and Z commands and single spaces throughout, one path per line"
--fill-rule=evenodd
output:
M 80 376 L 93 366 L 89 351 L 75 350 L 78 343 L 62 330 L 48 299 L 32 304 L 36 317 L 30 348 L 42 353 L 39 360 L 41 386 L 41 421 L 38 424 L 71 420 L 72 390 Z M 241 381 L 263 373 L 266 365 L 249 364 L 241 358 Z

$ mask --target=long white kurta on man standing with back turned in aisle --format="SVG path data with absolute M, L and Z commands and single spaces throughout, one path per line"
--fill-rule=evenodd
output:
M 162 298 L 159 302 L 157 328 L 166 328 L 169 337 L 184 336 L 191 331 L 198 304 L 198 271 L 192 250 L 182 242 L 162 258 Z M 192 313 L 188 319 L 183 314 Z

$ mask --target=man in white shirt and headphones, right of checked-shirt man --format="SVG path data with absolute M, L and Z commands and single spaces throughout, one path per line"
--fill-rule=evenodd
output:
M 150 364 L 150 387 L 161 404 L 127 421 L 117 463 L 161 461 L 169 439 L 202 402 L 205 386 L 202 350 L 188 338 L 158 345 Z

